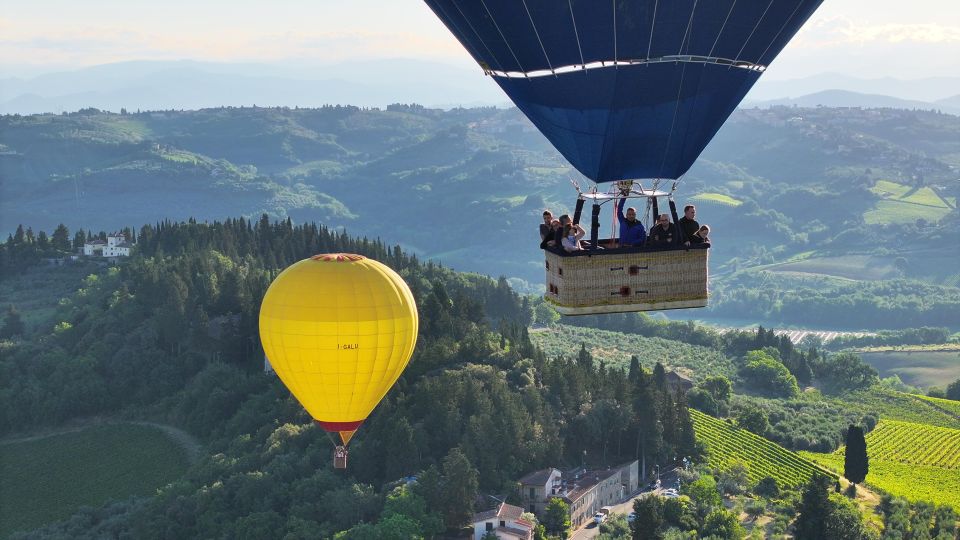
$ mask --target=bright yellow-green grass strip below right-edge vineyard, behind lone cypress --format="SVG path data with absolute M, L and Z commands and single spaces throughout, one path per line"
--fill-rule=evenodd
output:
M 842 455 L 800 454 L 838 473 L 843 471 Z M 866 484 L 910 501 L 949 504 L 955 510 L 960 510 L 960 471 L 956 469 L 871 459 Z

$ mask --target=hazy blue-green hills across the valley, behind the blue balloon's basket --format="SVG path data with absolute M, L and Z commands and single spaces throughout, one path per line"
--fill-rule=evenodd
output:
M 960 183 L 945 161 L 960 154 L 958 135 L 960 119 L 925 111 L 738 110 L 685 175 L 676 200 L 700 203 L 697 218 L 714 231 L 718 289 L 737 270 L 810 251 L 824 260 L 781 273 L 868 280 L 902 273 L 955 286 L 957 272 L 941 271 L 956 267 L 955 257 L 931 263 L 910 254 L 958 235 L 952 206 Z M 393 238 L 420 257 L 519 278 L 533 290 L 543 279 L 534 226 L 545 207 L 572 211 L 570 170 L 516 109 L 7 116 L 0 117 L 0 231 L 20 223 L 50 231 L 65 215 L 76 226 L 114 230 L 267 213 Z M 604 208 L 602 234 L 610 217 Z M 477 240 L 479 222 L 496 241 Z M 840 260 L 851 247 L 876 257 L 869 275 Z M 911 264 L 896 265 L 899 256 Z M 776 300 L 758 307 L 769 305 Z M 717 297 L 710 311 L 729 317 L 734 307 Z M 783 317 L 809 324 L 791 313 Z M 840 315 L 860 323 L 863 313 Z M 886 320 L 893 327 L 898 319 Z

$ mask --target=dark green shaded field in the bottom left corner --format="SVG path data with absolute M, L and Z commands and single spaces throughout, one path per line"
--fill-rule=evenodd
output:
M 83 505 L 151 495 L 187 465 L 185 451 L 162 431 L 135 424 L 0 443 L 0 538 Z

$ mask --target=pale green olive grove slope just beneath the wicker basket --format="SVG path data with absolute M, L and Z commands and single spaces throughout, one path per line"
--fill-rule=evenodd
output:
M 580 344 L 585 344 L 594 360 L 606 362 L 607 368 L 627 369 L 630 367 L 630 357 L 635 355 L 647 369 L 652 369 L 659 361 L 668 370 L 676 369 L 694 380 L 711 375 L 731 377 L 736 372 L 730 359 L 718 351 L 660 338 L 556 325 L 531 333 L 530 340 L 548 358 L 574 358 L 580 351 Z

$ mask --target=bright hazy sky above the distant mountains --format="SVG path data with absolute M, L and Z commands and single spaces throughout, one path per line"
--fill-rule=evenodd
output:
M 421 0 L 0 1 L 0 77 L 126 60 L 394 57 L 475 67 Z M 960 0 L 826 0 L 765 78 L 822 72 L 960 74 Z

